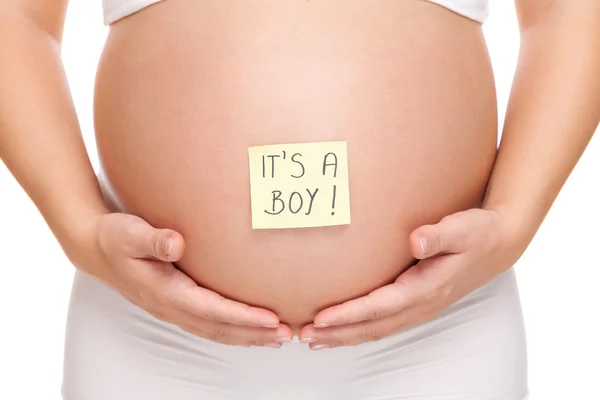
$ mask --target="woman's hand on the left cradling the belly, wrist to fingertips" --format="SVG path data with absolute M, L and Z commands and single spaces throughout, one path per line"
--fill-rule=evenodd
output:
M 163 321 L 203 338 L 239 346 L 280 347 L 290 328 L 273 312 L 204 289 L 175 268 L 183 237 L 142 218 L 107 213 L 91 218 L 67 256 L 80 270 Z

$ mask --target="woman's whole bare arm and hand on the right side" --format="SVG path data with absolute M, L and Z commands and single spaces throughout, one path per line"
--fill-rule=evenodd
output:
M 516 6 L 521 51 L 482 207 L 412 232 L 421 261 L 391 285 L 321 311 L 300 333 L 312 349 L 378 340 L 433 318 L 509 269 L 539 229 L 600 120 L 600 3 Z

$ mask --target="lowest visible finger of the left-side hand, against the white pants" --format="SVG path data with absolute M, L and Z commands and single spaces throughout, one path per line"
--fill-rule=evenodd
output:
M 258 328 L 225 324 L 203 320 L 195 315 L 180 317 L 182 329 L 213 342 L 235 346 L 267 346 L 279 348 L 293 339 L 292 330 L 287 325 L 277 328 Z

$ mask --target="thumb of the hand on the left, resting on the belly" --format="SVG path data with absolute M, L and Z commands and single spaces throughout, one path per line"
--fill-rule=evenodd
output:
M 155 258 L 166 262 L 181 259 L 185 248 L 181 234 L 173 229 L 156 229 L 141 218 L 136 220 L 135 226 L 129 229 L 134 257 Z

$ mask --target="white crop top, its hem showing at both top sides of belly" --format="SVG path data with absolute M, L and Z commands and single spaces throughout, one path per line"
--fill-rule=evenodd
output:
M 163 0 L 102 0 L 104 23 L 113 22 Z M 479 23 L 487 20 L 490 0 L 427 0 Z

